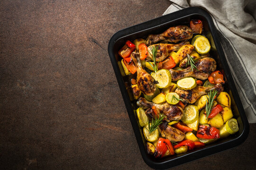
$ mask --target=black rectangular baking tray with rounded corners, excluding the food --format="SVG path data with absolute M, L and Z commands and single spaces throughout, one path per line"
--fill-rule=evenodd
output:
M 130 101 L 128 91 L 125 85 L 125 82 L 128 80 L 128 78 L 126 76 L 122 77 L 119 70 L 118 61 L 120 61 L 121 58 L 118 55 L 118 51 L 122 48 L 127 40 L 132 41 L 136 38 L 146 38 L 148 34 L 159 34 L 164 32 L 171 26 L 178 26 L 182 24 L 188 25 L 190 20 L 193 18 L 202 20 L 204 32 L 206 33 L 205 35 L 210 40 L 212 47 L 211 57 L 216 60 L 218 69 L 224 72 L 224 78 L 226 80 L 224 86 L 225 91 L 230 94 L 232 101 L 231 108 L 234 114 L 234 118 L 238 120 L 239 131 L 236 134 L 230 135 L 227 138 L 219 139 L 215 143 L 206 144 L 203 148 L 199 148 L 180 155 L 171 155 L 162 159 L 156 159 L 146 152 L 146 140 L 143 136 L 141 128 L 137 123 L 136 115 L 134 114 L 134 110 L 137 108 L 137 106 L 135 102 Z M 247 139 L 249 133 L 248 120 L 242 103 L 240 101 L 232 75 L 230 73 L 227 60 L 222 51 L 216 28 L 209 13 L 204 9 L 195 7 L 185 8 L 183 10 L 179 10 L 174 13 L 152 19 L 142 24 L 123 29 L 112 36 L 109 42 L 108 51 L 112 66 L 117 77 L 119 88 L 122 93 L 126 109 L 128 111 L 129 119 L 131 121 L 131 125 L 137 139 L 140 153 L 143 160 L 151 168 L 159 170 L 169 169 L 189 161 L 194 161 L 202 157 L 209 156 L 211 154 L 228 150 L 230 148 L 238 146 L 239 144 L 242 144 Z

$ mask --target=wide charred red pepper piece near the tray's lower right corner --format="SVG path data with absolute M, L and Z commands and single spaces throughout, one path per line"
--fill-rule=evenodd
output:
M 197 130 L 196 136 L 204 139 L 219 138 L 219 129 L 215 127 L 200 125 Z

